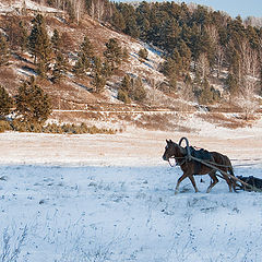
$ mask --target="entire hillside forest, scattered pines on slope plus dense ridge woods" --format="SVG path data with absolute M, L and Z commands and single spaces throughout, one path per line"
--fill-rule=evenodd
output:
M 233 19 L 225 12 L 183 2 L 35 2 L 63 10 L 69 24 L 80 25 L 81 17 L 88 14 L 114 31 L 162 50 L 165 60 L 157 70 L 168 80 L 164 90 L 167 93 L 182 90 L 186 99 L 193 97 L 203 105 L 219 102 L 226 94 L 240 107 L 247 108 L 247 118 L 258 108 L 257 95 L 262 93 L 262 27 L 259 19 L 242 21 L 240 16 Z M 4 33 L 0 35 L 0 67 L 7 66 L 10 55 L 16 50 L 28 52 L 34 58 L 37 78 L 59 84 L 68 72 L 78 78 L 88 74 L 91 90 L 98 94 L 129 57 L 128 50 L 121 48 L 115 38 L 108 39 L 105 51 L 97 55 L 92 39 L 85 36 L 72 63 L 72 39 L 58 29 L 53 29 L 50 37 L 41 14 L 36 14 L 31 22 L 21 20 L 14 23 L 14 17 L 7 17 L 1 27 Z M 147 50 L 141 49 L 139 56 L 141 60 L 146 60 Z M 215 87 L 217 84 L 223 84 L 223 91 Z M 26 87 L 29 86 L 35 88 L 33 93 L 40 94 L 41 104 L 35 103 L 36 95 L 32 96 L 33 102 L 28 102 L 31 96 L 26 95 Z M 44 122 L 50 115 L 51 106 L 40 86 L 31 79 L 21 85 L 19 92 L 16 96 L 9 97 L 1 87 L 1 116 L 15 107 L 16 112 L 23 115 L 22 120 Z M 133 79 L 127 72 L 118 87 L 118 99 L 142 103 L 145 97 L 143 80 Z

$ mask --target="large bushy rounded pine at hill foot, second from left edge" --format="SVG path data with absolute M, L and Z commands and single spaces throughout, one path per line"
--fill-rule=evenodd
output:
M 34 78 L 20 86 L 15 104 L 17 115 L 26 122 L 44 123 L 51 114 L 50 98 Z

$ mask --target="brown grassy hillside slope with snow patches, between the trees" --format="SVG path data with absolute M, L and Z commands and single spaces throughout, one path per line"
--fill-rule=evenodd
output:
M 45 72 L 46 75 L 40 78 L 34 56 L 27 49 L 22 50 L 17 40 L 21 37 L 20 27 L 14 21 L 23 24 L 28 36 L 34 26 L 33 19 L 37 13 L 45 19 L 49 39 L 53 36 L 55 29 L 59 32 L 60 36 L 63 36 L 61 48 L 69 64 L 59 83 L 52 81 L 56 56 L 50 55 L 49 68 Z M 214 76 L 215 71 L 214 75 L 209 76 L 209 86 L 212 86 L 215 93 L 219 93 L 219 100 L 213 103 L 203 100 L 204 105 L 202 106 L 200 100 L 192 97 L 192 91 L 190 91 L 192 87 L 189 88 L 182 78 L 179 76 L 176 80 L 175 88 L 171 86 L 170 75 L 163 70 L 168 61 L 168 58 L 164 56 L 165 49 L 120 33 L 108 22 L 98 22 L 87 13 L 82 14 L 81 20 L 70 22 L 68 12 L 28 0 L 12 1 L 11 3 L 3 1 L 0 14 L 1 32 L 7 37 L 10 48 L 8 63 L 0 67 L 0 84 L 8 90 L 11 96 L 15 96 L 21 83 L 32 75 L 35 76 L 37 83 L 51 98 L 52 115 L 49 121 L 109 124 L 121 129 L 126 123 L 150 129 L 159 129 L 160 124 L 163 124 L 162 129 L 179 129 L 180 127 L 170 120 L 174 111 L 195 114 L 203 108 L 206 111 L 207 108 L 211 115 L 209 117 L 200 116 L 204 121 L 235 128 L 245 126 L 241 117 L 236 118 L 237 115 L 230 115 L 231 112 L 241 112 L 241 105 L 231 103 L 229 98 L 228 87 L 225 85 L 228 74 L 226 69 L 222 70 L 219 79 Z M 96 92 L 94 87 L 94 69 L 87 70 L 82 75 L 73 73 L 84 37 L 87 37 L 94 47 L 94 56 L 102 60 L 105 59 L 104 53 L 109 39 L 116 39 L 120 48 L 128 53 L 128 58 L 117 66 L 114 74 L 106 79 L 102 92 Z M 144 59 L 139 55 L 143 49 L 147 50 Z M 105 63 L 104 60 L 103 62 Z M 124 75 L 129 75 L 131 81 L 142 80 L 142 86 L 146 94 L 143 100 L 131 98 L 130 103 L 123 103 L 118 98 Z M 196 79 L 195 72 L 190 72 L 190 75 L 192 79 Z M 202 86 L 202 83 L 200 85 Z M 133 112 L 129 114 L 129 111 Z M 224 112 L 227 115 L 223 115 Z M 105 124 L 106 122 L 107 124 Z

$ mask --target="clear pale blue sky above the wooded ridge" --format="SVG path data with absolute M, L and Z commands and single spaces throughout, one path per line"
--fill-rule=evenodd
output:
M 175 2 L 194 2 L 201 5 L 212 7 L 236 17 L 238 14 L 242 19 L 247 16 L 262 17 L 262 0 L 175 0 Z

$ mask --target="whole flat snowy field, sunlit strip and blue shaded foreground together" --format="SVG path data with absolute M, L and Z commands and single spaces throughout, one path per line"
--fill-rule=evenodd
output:
M 200 193 L 186 179 L 175 195 L 181 171 L 160 158 L 165 138 L 180 136 L 0 134 L 0 260 L 261 261 L 262 194 L 229 193 L 222 179 L 206 194 L 202 176 Z M 188 136 L 262 178 L 258 129 Z

